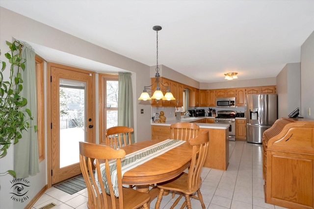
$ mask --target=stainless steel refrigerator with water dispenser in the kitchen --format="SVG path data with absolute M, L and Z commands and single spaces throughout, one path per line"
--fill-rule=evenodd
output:
M 246 141 L 262 143 L 262 136 L 277 120 L 277 94 L 251 94 L 246 98 Z

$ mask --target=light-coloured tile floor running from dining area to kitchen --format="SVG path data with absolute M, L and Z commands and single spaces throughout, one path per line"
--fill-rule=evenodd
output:
M 285 209 L 264 202 L 262 179 L 262 146 L 245 141 L 229 141 L 229 166 L 227 171 L 203 168 L 201 192 L 207 209 Z M 156 199 L 152 200 L 154 209 Z M 160 209 L 170 209 L 175 199 L 171 195 L 162 198 Z M 39 209 L 49 203 L 53 209 L 87 209 L 87 191 L 73 195 L 57 188 L 49 188 L 34 204 Z M 175 208 L 180 208 L 182 198 Z M 198 200 L 192 199 L 192 208 L 201 209 Z

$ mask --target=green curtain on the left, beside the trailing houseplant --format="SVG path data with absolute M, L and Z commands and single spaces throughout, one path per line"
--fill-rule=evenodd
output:
M 25 70 L 21 70 L 23 78 L 23 91 L 21 96 L 27 99 L 25 108 L 29 109 L 33 120 L 29 120 L 31 126 L 37 121 L 37 88 L 35 52 L 31 46 L 24 43 L 22 58 L 26 59 Z M 27 115 L 27 114 L 26 114 Z M 42 127 L 39 127 L 42 128 Z M 37 133 L 33 128 L 23 131 L 23 137 L 14 145 L 14 170 L 16 178 L 26 178 L 39 172 Z

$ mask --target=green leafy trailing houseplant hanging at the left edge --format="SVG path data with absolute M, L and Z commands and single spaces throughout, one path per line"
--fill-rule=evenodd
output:
M 3 158 L 7 149 L 13 143 L 17 143 L 22 138 L 22 131 L 27 130 L 29 120 L 32 120 L 29 109 L 24 108 L 27 99 L 20 93 L 23 90 L 23 79 L 21 70 L 25 70 L 25 59 L 21 58 L 22 44 L 19 41 L 13 43 L 6 42 L 10 50 L 5 53 L 10 65 L 10 75 L 8 80 L 4 80 L 3 70 L 6 63 L 0 61 L 0 158 Z M 35 126 L 35 131 L 37 127 Z M 13 170 L 8 170 L 15 176 Z

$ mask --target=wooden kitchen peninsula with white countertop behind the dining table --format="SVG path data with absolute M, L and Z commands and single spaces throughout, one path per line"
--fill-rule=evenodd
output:
M 216 123 L 198 123 L 209 117 L 187 117 L 177 120 L 169 118 L 165 123 L 152 122 L 152 139 L 169 139 L 170 125 L 177 122 L 195 122 L 200 132 L 209 131 L 209 152 L 204 166 L 219 170 L 227 170 L 229 164 L 229 125 Z

